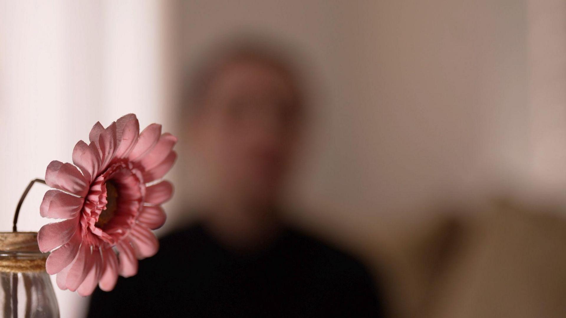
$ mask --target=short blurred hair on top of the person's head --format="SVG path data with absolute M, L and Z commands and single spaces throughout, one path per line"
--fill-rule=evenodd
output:
M 288 78 L 297 94 L 297 101 L 303 102 L 305 92 L 303 76 L 299 74 L 301 67 L 297 54 L 291 52 L 291 49 L 291 45 L 258 35 L 231 36 L 228 40 L 212 46 L 212 49 L 184 74 L 180 103 L 183 118 L 201 111 L 212 81 L 224 67 L 234 62 L 253 62 L 273 68 Z

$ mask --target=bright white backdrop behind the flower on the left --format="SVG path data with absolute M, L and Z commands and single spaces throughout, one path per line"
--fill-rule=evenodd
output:
M 27 183 L 52 160 L 70 162 L 96 121 L 134 112 L 141 127 L 168 129 L 162 11 L 155 1 L 0 1 L 0 231 L 11 231 Z M 32 188 L 20 231 L 48 222 L 46 190 Z M 53 284 L 61 317 L 82 316 L 88 299 Z

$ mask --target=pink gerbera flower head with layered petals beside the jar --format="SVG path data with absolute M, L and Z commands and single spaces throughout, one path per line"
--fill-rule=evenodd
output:
M 173 166 L 177 138 L 161 134 L 160 124 L 139 133 L 138 119 L 128 114 L 104 128 L 97 122 L 89 144 L 80 140 L 74 165 L 52 161 L 45 182 L 42 217 L 65 219 L 41 227 L 42 252 L 52 251 L 45 267 L 57 274 L 61 289 L 89 295 L 114 288 L 118 274 L 138 272 L 138 260 L 153 256 L 158 241 L 151 230 L 161 227 L 173 186 L 156 183 Z M 77 169 L 79 167 L 79 169 Z M 116 255 L 117 250 L 118 255 Z

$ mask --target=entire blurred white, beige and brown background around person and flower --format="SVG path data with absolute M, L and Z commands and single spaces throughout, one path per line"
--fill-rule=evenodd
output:
M 0 230 L 96 121 L 179 134 L 181 71 L 239 31 L 288 41 L 312 87 L 288 217 L 371 264 L 392 316 L 566 315 L 564 0 L 1 0 Z M 160 234 L 190 221 L 189 155 Z M 47 222 L 42 187 L 21 230 Z

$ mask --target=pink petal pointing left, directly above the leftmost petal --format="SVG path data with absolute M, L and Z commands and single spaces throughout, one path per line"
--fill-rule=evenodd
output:
M 84 198 L 59 190 L 45 192 L 39 212 L 42 217 L 48 218 L 75 218 L 83 208 Z

